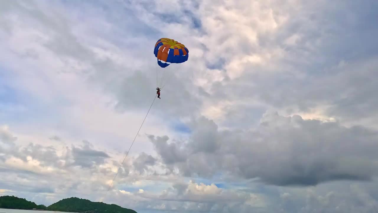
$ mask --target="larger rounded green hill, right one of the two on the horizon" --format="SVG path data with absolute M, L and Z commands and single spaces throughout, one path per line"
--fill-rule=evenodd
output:
M 68 211 L 80 213 L 136 213 L 136 211 L 122 208 L 115 204 L 105 204 L 103 202 L 91 202 L 90 200 L 77 197 L 60 200 L 47 207 L 50 211 Z

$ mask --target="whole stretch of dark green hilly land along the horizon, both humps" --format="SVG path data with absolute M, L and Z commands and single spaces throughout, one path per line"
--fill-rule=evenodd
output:
M 103 202 L 91 202 L 90 200 L 77 197 L 60 200 L 48 207 L 37 205 L 25 198 L 15 196 L 0 196 L 0 208 L 23 209 L 23 210 L 48 210 L 65 211 L 77 213 L 136 213 L 128 208 L 122 208 L 115 204 L 105 204 Z

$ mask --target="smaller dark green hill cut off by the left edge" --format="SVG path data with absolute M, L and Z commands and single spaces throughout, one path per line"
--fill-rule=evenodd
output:
M 30 202 L 25 198 L 19 198 L 15 196 L 1 196 L 0 208 L 12 208 L 12 209 L 46 209 L 44 205 L 37 205 L 34 202 Z

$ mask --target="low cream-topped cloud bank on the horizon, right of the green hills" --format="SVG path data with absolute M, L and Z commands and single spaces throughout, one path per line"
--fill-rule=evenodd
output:
M 193 181 L 175 184 L 160 193 L 149 193 L 144 190 L 139 190 L 135 195 L 152 200 L 152 203 L 150 201 L 146 202 L 147 209 L 152 208 L 165 211 L 213 212 L 222 211 L 223 207 L 231 205 L 235 207 L 235 210 L 231 210 L 231 208 L 229 210 L 231 210 L 231 212 L 237 212 L 243 208 L 243 206 L 245 209 L 249 208 L 249 210 L 251 210 L 263 204 L 263 198 L 258 195 L 224 190 L 214 184 L 198 184 Z M 257 200 L 254 205 L 249 203 L 252 199 Z

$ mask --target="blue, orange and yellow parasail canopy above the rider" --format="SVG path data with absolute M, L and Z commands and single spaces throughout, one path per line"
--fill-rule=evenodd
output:
M 180 64 L 188 60 L 189 50 L 185 45 L 174 39 L 161 38 L 155 44 L 153 50 L 160 67 L 167 67 L 171 63 Z

